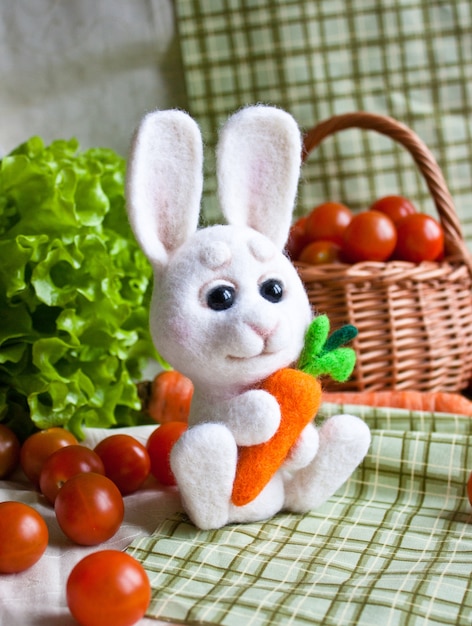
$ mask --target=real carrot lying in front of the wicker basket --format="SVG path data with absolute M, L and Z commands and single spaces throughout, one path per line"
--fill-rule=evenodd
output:
M 324 391 L 323 402 L 472 416 L 470 400 L 459 393 L 445 391 Z

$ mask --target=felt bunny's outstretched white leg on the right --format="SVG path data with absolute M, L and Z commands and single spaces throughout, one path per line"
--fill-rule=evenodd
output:
M 352 415 L 334 415 L 319 429 L 314 460 L 285 483 L 285 508 L 293 512 L 314 509 L 349 478 L 367 454 L 370 431 Z

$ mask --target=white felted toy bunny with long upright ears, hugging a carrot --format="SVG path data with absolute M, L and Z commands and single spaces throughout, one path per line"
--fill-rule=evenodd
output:
M 317 429 L 311 415 L 267 484 L 235 504 L 241 452 L 271 440 L 281 425 L 281 404 L 262 382 L 297 361 L 313 317 L 283 253 L 300 132 L 273 107 L 233 115 L 217 149 L 228 225 L 198 229 L 202 154 L 199 128 L 186 113 L 148 114 L 133 142 L 127 196 L 132 228 L 155 271 L 156 348 L 194 383 L 189 429 L 173 448 L 172 470 L 189 517 L 211 529 L 317 507 L 364 458 L 370 432 L 350 415 Z

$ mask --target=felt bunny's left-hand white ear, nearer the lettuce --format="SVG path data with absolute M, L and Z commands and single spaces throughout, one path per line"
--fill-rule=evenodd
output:
M 127 204 L 131 227 L 158 267 L 195 232 L 202 194 L 200 130 L 183 111 L 155 111 L 139 125 L 131 147 Z

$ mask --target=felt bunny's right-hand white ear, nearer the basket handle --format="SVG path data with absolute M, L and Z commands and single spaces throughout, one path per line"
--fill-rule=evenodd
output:
M 283 248 L 301 152 L 300 131 L 289 113 L 263 105 L 235 113 L 217 147 L 218 192 L 227 221 L 250 226 Z

